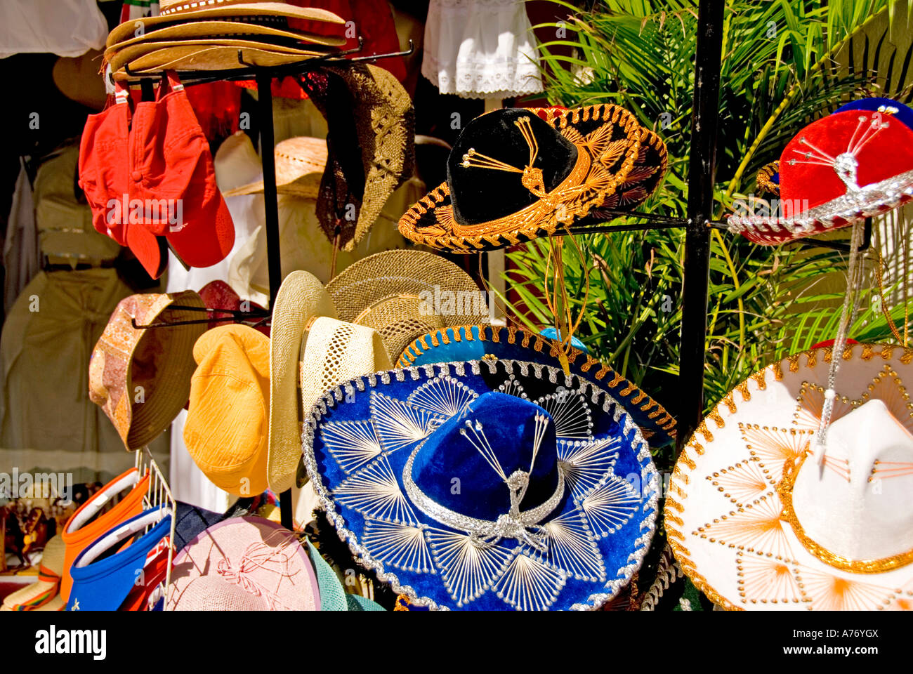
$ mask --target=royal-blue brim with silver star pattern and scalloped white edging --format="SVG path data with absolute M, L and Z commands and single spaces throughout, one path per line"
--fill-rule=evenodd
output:
M 540 522 L 550 532 L 546 552 L 508 538 L 480 547 L 409 500 L 410 456 L 472 396 L 499 391 L 537 401 L 561 387 L 580 394 L 569 400 L 586 407 L 592 427 L 578 425 L 572 435 L 556 413 L 559 441 L 581 437 L 582 428 L 611 452 L 562 446 L 559 458 L 576 477 Z M 432 608 L 602 606 L 639 568 L 655 530 L 658 476 L 639 428 L 603 389 L 538 363 L 446 363 L 360 377 L 314 405 L 302 443 L 340 538 L 395 592 Z

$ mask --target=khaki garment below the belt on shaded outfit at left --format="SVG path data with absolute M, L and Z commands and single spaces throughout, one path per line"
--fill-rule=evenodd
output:
M 0 465 L 94 482 L 133 462 L 89 400 L 89 355 L 131 290 L 114 269 L 39 272 L 0 336 Z

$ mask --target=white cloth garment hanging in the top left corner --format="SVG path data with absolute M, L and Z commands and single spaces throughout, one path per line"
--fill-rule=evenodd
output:
M 0 58 L 51 53 L 77 57 L 101 49 L 108 21 L 95 0 L 4 0 L 0 3 Z

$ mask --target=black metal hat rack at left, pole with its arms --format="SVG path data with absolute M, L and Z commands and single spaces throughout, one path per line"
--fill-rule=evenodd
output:
M 415 45 L 409 40 L 409 47 L 403 51 L 396 51 L 387 54 L 371 54 L 365 56 L 353 56 L 362 51 L 364 48 L 364 39 L 358 38 L 358 47 L 345 51 L 333 52 L 317 58 L 309 58 L 295 63 L 283 64 L 281 66 L 257 66 L 247 63 L 244 59 L 242 49 L 237 50 L 237 68 L 226 70 L 182 70 L 178 71 L 178 78 L 185 87 L 195 84 L 205 84 L 208 82 L 230 81 L 230 80 L 250 80 L 257 82 L 257 121 L 259 124 L 260 152 L 263 163 L 263 200 L 266 216 L 267 232 L 267 263 L 269 274 L 269 298 L 270 310 L 272 309 L 272 299 L 276 297 L 279 286 L 282 285 L 282 258 L 279 249 L 279 213 L 278 213 L 278 190 L 276 186 L 276 156 L 273 148 L 276 145 L 273 134 L 273 92 L 272 81 L 274 78 L 294 77 L 303 75 L 324 66 L 346 67 L 356 63 L 369 62 L 373 63 L 382 58 L 404 57 L 409 56 L 415 51 Z M 142 73 L 131 70 L 129 64 L 124 67 L 124 71 L 130 77 L 127 84 L 139 84 L 144 90 L 151 90 L 155 81 L 161 77 L 164 71 Z M 110 75 L 113 81 L 113 75 Z M 302 89 L 307 90 L 307 84 L 303 78 L 295 78 Z M 221 321 L 256 321 L 262 323 L 268 317 L 268 311 L 223 311 L 213 309 L 201 309 L 199 307 L 185 307 L 194 311 L 221 311 L 229 314 L 227 318 L 208 318 L 200 321 L 190 322 L 221 322 Z M 181 321 L 188 322 L 188 321 Z M 161 327 L 175 325 L 178 323 L 161 323 Z M 152 324 L 150 327 L 159 327 L 159 324 Z M 169 492 L 170 494 L 170 492 Z M 282 526 L 291 529 L 292 511 L 291 511 L 291 490 L 286 490 L 278 495 L 279 511 Z

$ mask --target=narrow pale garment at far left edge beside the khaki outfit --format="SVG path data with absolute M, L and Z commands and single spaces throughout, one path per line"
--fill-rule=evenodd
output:
M 9 209 L 9 220 L 6 223 L 6 237 L 3 243 L 3 266 L 6 272 L 3 306 L 6 313 L 9 313 L 13 302 L 19 297 L 22 289 L 28 285 L 28 281 L 35 278 L 41 269 L 32 184 L 28 181 L 26 164 L 21 157 L 19 164 L 16 192 L 13 193 L 13 205 Z

